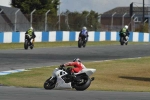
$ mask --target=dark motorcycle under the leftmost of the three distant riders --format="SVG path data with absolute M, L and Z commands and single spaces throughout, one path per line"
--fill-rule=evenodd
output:
M 25 35 L 25 42 L 24 42 L 24 49 L 27 50 L 28 47 L 30 49 L 33 49 L 33 44 L 30 42 L 31 41 L 31 36 L 29 34 Z

